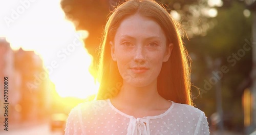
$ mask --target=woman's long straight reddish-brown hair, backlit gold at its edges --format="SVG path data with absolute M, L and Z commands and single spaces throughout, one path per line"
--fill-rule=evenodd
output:
M 161 72 L 157 79 L 159 95 L 166 100 L 191 105 L 190 57 L 183 46 L 179 31 L 181 30 L 180 24 L 170 16 L 163 6 L 151 0 L 126 1 L 119 5 L 109 17 L 99 48 L 98 80 L 100 87 L 97 100 L 116 96 L 120 91 L 122 77 L 118 72 L 117 63 L 112 60 L 109 42 L 113 40 L 122 20 L 135 13 L 155 20 L 164 31 L 167 44 L 174 44 L 170 58 L 167 62 L 163 62 Z

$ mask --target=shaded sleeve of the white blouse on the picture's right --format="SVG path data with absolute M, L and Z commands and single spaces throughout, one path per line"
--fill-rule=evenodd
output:
M 208 122 L 207 122 L 207 118 L 205 116 L 205 114 L 203 113 L 203 111 L 201 112 L 201 116 L 198 120 L 198 123 L 197 123 L 197 128 L 195 130 L 195 135 L 196 134 L 210 134 L 209 132 L 209 126 L 208 126 Z

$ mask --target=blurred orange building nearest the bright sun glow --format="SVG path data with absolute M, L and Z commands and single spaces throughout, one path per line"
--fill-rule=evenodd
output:
M 42 59 L 33 51 L 19 49 L 15 53 L 15 68 L 22 76 L 20 88 L 22 120 L 39 120 L 50 107 L 48 73 L 44 70 Z

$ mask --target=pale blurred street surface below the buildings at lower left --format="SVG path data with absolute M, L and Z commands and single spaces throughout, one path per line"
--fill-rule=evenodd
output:
M 17 129 L 10 129 L 8 131 L 1 129 L 0 134 L 5 134 L 5 135 L 17 135 L 17 134 L 19 134 L 19 135 L 34 135 L 34 134 L 60 135 L 60 134 L 64 134 L 64 132 L 61 131 L 61 129 L 51 131 L 48 123 L 42 123 L 40 125 L 33 125 L 33 126 L 17 128 Z

